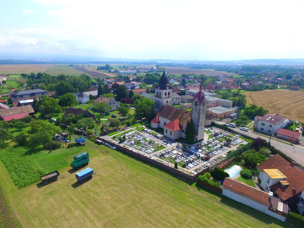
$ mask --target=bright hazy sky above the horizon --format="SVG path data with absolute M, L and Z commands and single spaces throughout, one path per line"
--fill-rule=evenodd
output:
M 0 56 L 304 58 L 304 0 L 2 0 L 0 5 Z

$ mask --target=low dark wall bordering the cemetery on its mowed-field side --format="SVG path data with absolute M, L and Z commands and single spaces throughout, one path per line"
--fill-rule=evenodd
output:
M 144 160 L 146 162 L 150 162 L 150 163 L 152 163 L 152 164 L 154 164 L 154 165 L 156 165 L 158 167 L 161 167 L 161 168 L 163 168 L 165 170 L 168 170 L 168 171 L 170 171 L 170 172 L 172 172 L 172 173 L 174 173 L 176 175 L 185 177 L 188 180 L 191 180 L 193 182 L 196 180 L 196 178 L 199 175 L 203 175 L 205 172 L 210 172 L 214 167 L 219 167 L 222 164 L 224 165 L 223 167 L 225 167 L 225 166 L 227 166 L 228 164 L 230 164 L 231 162 L 234 161 L 234 158 L 232 158 L 230 160 L 228 160 L 228 158 L 224 158 L 224 159 L 220 160 L 219 162 L 215 162 L 212 166 L 209 166 L 209 167 L 203 169 L 202 171 L 200 171 L 200 172 L 198 172 L 198 173 L 196 173 L 194 175 L 190 175 L 190 174 L 187 174 L 187 173 L 185 173 L 183 171 L 175 169 L 174 168 L 174 164 L 170 164 L 172 166 L 168 166 L 167 164 L 164 164 L 163 162 L 161 162 L 157 158 L 153 159 L 148 154 L 146 155 L 146 154 L 144 154 L 142 152 L 135 152 L 135 151 L 131 150 L 130 148 L 123 147 L 123 146 L 121 146 L 121 145 L 119 145 L 119 144 L 117 144 L 117 143 L 115 143 L 113 141 L 108 141 L 108 140 L 106 140 L 104 138 L 98 137 L 96 139 L 96 143 L 100 144 L 100 141 L 104 141 L 105 143 L 109 143 L 109 144 L 115 145 L 118 150 L 121 150 L 121 151 L 126 152 L 128 154 L 131 154 L 132 156 L 138 157 L 138 158 L 140 158 L 140 159 L 142 159 L 142 160 Z

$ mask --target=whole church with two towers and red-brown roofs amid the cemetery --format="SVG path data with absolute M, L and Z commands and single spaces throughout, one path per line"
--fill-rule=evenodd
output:
M 185 138 L 187 121 L 192 118 L 195 128 L 195 141 L 204 137 L 207 103 L 202 85 L 192 102 L 191 111 L 172 106 L 172 87 L 165 74 L 160 77 L 159 85 L 155 88 L 154 111 L 156 116 L 151 120 L 153 128 L 164 129 L 164 136 L 169 139 Z

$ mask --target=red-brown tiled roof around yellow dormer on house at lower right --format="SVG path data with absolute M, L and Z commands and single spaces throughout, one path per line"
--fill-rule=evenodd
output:
M 281 185 L 280 182 L 271 186 L 276 194 L 283 200 L 287 200 L 290 197 L 299 194 L 304 190 L 304 173 L 298 166 L 292 166 L 279 154 L 270 157 L 257 168 L 264 172 L 264 169 L 279 169 L 285 176 L 290 185 Z

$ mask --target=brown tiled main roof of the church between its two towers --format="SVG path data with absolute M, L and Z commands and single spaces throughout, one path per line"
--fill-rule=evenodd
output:
M 179 124 L 184 126 L 187 125 L 187 121 L 191 118 L 191 112 L 169 105 L 162 105 L 156 115 L 161 116 L 169 121 L 178 119 Z

